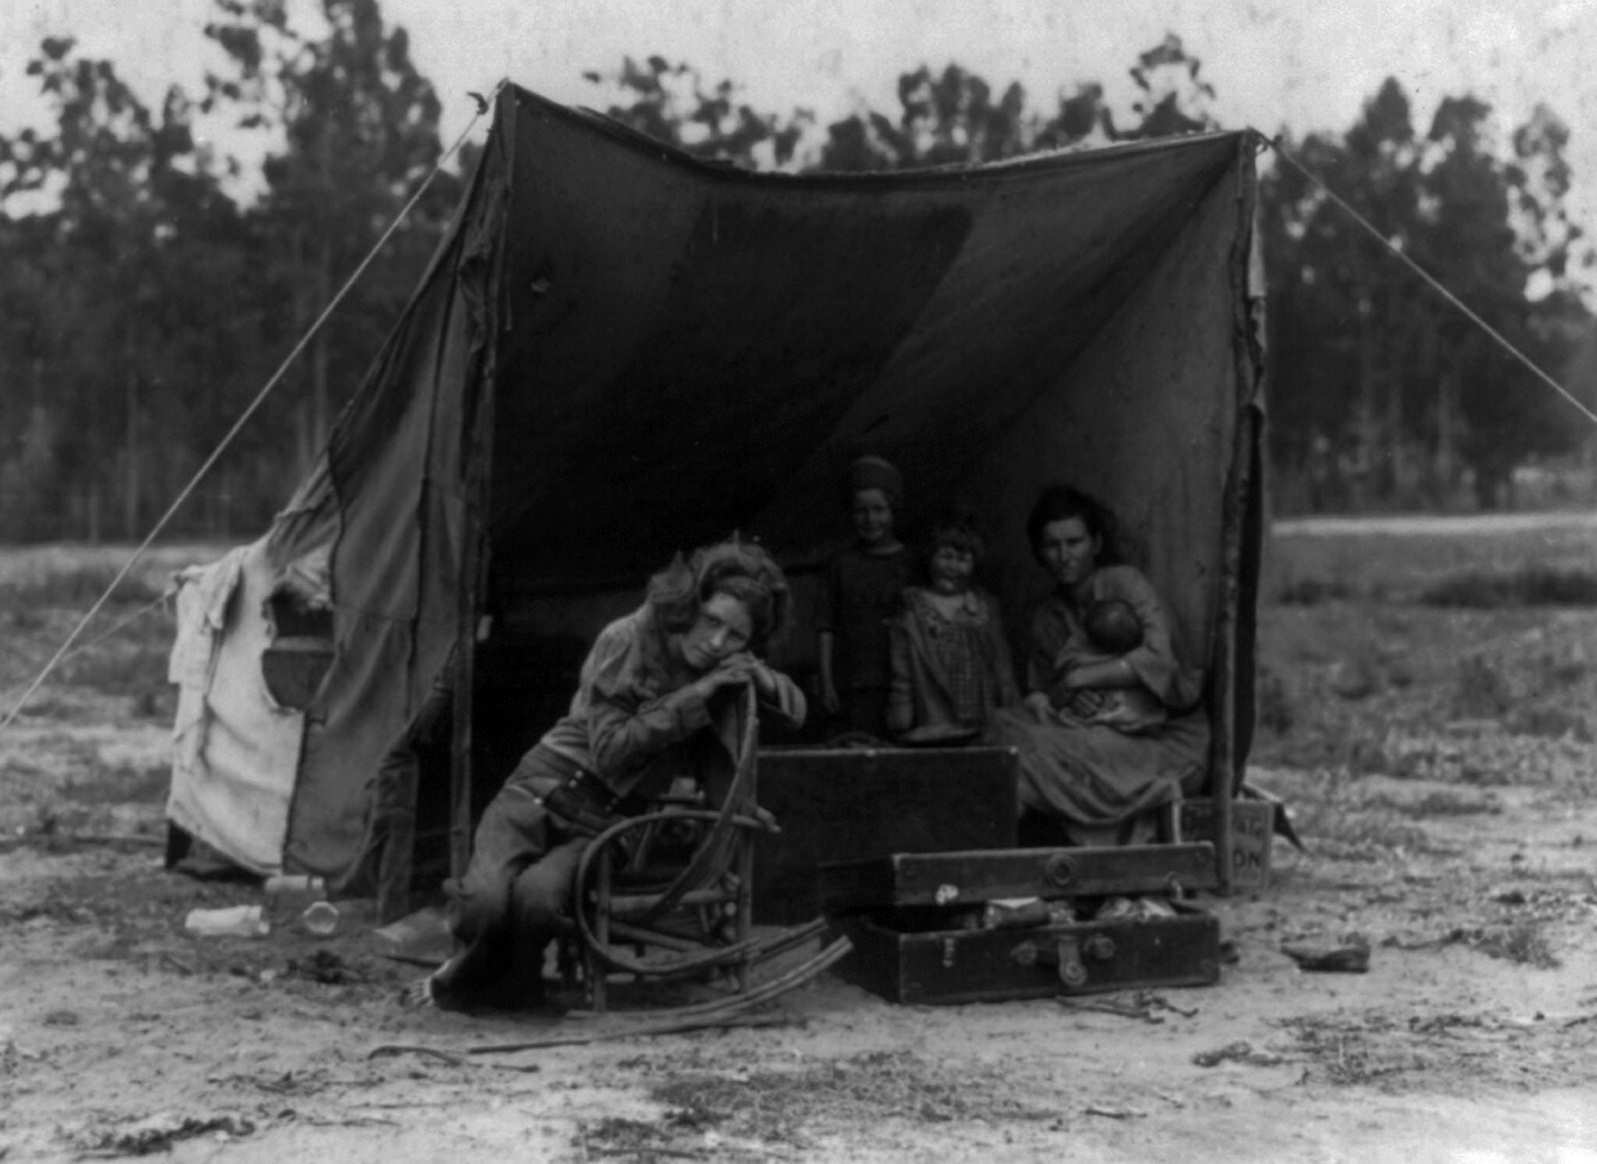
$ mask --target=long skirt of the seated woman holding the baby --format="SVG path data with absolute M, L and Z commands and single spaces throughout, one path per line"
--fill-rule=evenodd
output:
M 1209 720 L 1177 715 L 1140 734 L 1059 717 L 1038 723 L 1027 709 L 993 719 L 998 746 L 1020 754 L 1020 808 L 1084 827 L 1113 825 L 1180 794 L 1203 792 Z

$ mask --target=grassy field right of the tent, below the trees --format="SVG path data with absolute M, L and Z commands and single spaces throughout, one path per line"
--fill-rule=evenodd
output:
M 1597 521 L 1290 524 L 1268 552 L 1255 760 L 1490 781 L 1597 736 Z M 1442 747 L 1452 723 L 1522 746 Z

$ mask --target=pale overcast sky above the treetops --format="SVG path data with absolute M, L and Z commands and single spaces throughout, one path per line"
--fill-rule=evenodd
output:
M 0 0 L 0 129 L 37 118 L 27 54 L 69 32 L 158 99 L 200 91 L 212 0 Z M 291 0 L 313 8 L 311 0 Z M 1388 75 L 1423 133 L 1436 102 L 1471 91 L 1508 128 L 1538 101 L 1571 129 L 1578 220 L 1597 232 L 1597 0 L 382 0 L 410 30 L 444 101 L 444 141 L 473 113 L 468 91 L 508 77 L 556 101 L 592 102 L 588 69 L 661 54 L 731 78 L 755 109 L 805 107 L 822 123 L 861 104 L 896 112 L 894 83 L 950 61 L 995 86 L 1019 80 L 1035 107 L 1099 80 L 1129 104 L 1126 75 L 1166 32 L 1215 86 L 1228 128 L 1298 137 L 1345 131 Z M 474 133 L 485 133 L 479 125 Z

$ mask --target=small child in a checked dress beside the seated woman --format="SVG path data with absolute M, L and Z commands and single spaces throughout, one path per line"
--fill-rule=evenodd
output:
M 984 543 L 968 517 L 939 522 L 926 586 L 904 591 L 890 626 L 888 731 L 912 744 L 968 742 L 1020 703 L 998 602 L 973 584 Z

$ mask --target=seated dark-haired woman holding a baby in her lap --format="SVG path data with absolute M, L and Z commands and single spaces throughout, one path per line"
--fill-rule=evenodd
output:
M 1140 840 L 1145 811 L 1203 787 L 1209 722 L 1203 675 L 1175 653 L 1153 584 L 1119 559 L 1113 514 L 1054 485 L 1027 519 L 1054 592 L 1032 615 L 1019 709 L 995 715 L 1020 754 L 1020 806 L 1070 840 Z

